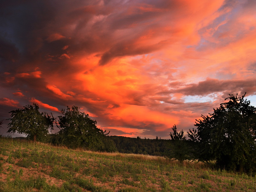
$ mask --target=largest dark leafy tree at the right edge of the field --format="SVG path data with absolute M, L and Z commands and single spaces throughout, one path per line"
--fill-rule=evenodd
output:
M 229 94 L 228 102 L 196 120 L 202 160 L 216 160 L 226 169 L 255 171 L 256 108 L 244 96 Z

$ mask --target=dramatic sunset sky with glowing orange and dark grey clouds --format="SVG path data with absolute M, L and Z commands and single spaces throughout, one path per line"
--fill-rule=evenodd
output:
M 150 139 L 170 139 L 174 124 L 186 134 L 228 94 L 256 106 L 255 10 L 254 0 L 1 1 L 0 133 L 8 112 L 33 103 L 57 120 L 75 105 L 109 135 Z

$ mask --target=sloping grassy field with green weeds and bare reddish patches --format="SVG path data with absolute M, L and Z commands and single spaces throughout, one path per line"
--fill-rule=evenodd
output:
M 200 162 L 0 138 L 0 191 L 256 191 L 256 178 Z

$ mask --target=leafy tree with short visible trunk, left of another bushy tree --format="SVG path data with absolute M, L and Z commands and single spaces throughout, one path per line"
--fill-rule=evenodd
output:
M 45 112 L 40 113 L 36 103 L 9 113 L 11 118 L 8 120 L 11 122 L 8 124 L 7 132 L 18 132 L 27 135 L 30 140 L 44 141 L 49 134 L 49 128 L 53 129 L 55 119 Z

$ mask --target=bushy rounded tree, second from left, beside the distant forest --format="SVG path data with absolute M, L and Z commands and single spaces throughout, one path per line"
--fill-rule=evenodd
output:
M 104 150 L 103 136 L 107 135 L 96 127 L 97 122 L 90 119 L 88 114 L 82 113 L 73 106 L 62 109 L 63 116 L 59 116 L 59 134 L 62 143 L 69 147 L 85 147 L 92 150 Z

